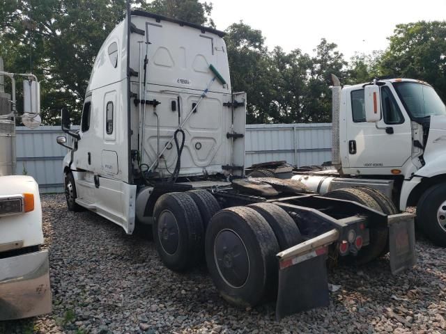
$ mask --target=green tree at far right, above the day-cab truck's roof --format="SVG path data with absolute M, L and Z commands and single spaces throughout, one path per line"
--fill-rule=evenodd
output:
M 378 63 L 380 74 L 429 82 L 446 100 L 446 22 L 398 24 Z

